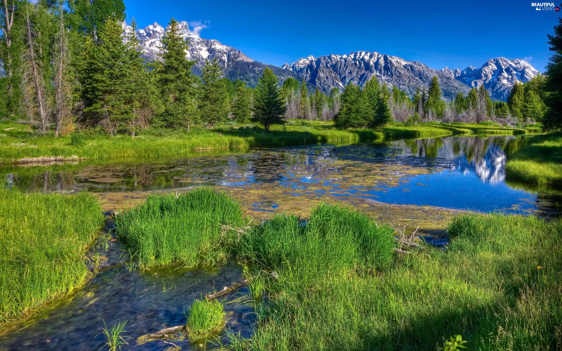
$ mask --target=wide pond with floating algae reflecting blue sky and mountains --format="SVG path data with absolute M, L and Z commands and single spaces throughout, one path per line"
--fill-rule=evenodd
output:
M 332 195 L 482 212 L 559 212 L 554 192 L 506 183 L 506 154 L 520 143 L 521 138 L 514 136 L 450 136 L 253 149 L 151 162 L 4 167 L 3 173 L 7 186 L 28 191 L 142 192 L 217 185 L 260 192 L 261 186 L 274 184 L 293 197 Z M 277 200 L 272 194 L 246 206 L 271 212 Z

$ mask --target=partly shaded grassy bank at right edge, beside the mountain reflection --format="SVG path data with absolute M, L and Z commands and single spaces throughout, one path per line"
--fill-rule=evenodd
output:
M 562 133 L 533 136 L 508 155 L 505 168 L 509 180 L 562 187 Z

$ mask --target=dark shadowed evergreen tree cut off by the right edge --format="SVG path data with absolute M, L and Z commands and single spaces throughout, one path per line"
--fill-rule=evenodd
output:
M 558 23 L 554 35 L 548 36 L 549 49 L 554 54 L 546 65 L 546 88 L 550 94 L 546 97 L 548 109 L 542 121 L 545 130 L 562 129 L 562 18 L 558 17 Z

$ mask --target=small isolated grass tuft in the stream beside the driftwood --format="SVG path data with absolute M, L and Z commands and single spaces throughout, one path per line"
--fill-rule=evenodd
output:
M 194 300 L 187 310 L 185 330 L 189 339 L 200 340 L 222 329 L 224 326 L 223 304 L 217 300 Z

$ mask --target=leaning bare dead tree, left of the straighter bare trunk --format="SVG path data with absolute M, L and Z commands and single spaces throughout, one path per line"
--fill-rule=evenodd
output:
M 29 20 L 29 5 L 26 4 L 26 19 L 24 25 L 25 31 L 25 45 L 26 49 L 22 55 L 22 93 L 24 93 L 24 102 L 26 103 L 26 110 L 31 121 L 39 117 L 39 127 L 41 134 L 47 134 L 48 118 L 47 118 L 47 103 L 44 94 L 44 80 L 42 65 L 35 52 L 35 35 L 31 21 Z

